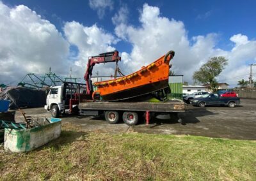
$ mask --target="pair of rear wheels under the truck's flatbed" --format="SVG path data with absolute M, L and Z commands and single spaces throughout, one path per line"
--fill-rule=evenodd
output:
M 110 124 L 116 124 L 119 121 L 120 112 L 107 111 L 105 112 L 105 119 Z M 122 118 L 125 124 L 129 126 L 136 125 L 139 121 L 138 113 L 136 112 L 124 112 Z

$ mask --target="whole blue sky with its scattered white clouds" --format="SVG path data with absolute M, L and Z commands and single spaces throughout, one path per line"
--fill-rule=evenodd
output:
M 13 11 L 20 18 L 13 19 L 8 13 L 0 16 L 0 21 L 3 18 L 2 22 L 5 22 L 2 26 L 0 23 L 2 41 L 6 37 L 19 37 L 13 38 L 8 45 L 0 44 L 0 48 L 5 51 L 2 54 L 0 51 L 0 61 L 2 56 L 5 62 L 12 62 L 14 67 L 20 67 L 19 62 L 26 62 L 29 66 L 19 69 L 20 76 L 31 71 L 43 73 L 51 66 L 52 60 L 45 61 L 51 59 L 45 55 L 47 50 L 49 54 L 55 55 L 54 61 L 60 66 L 52 68 L 56 73 L 65 74 L 69 69 L 64 71 L 65 66 L 74 66 L 76 76 L 82 77 L 86 59 L 90 55 L 117 49 L 124 60 L 121 68 L 129 73 L 154 61 L 169 50 L 170 46 L 177 52 L 173 59 L 173 70 L 184 75 L 184 80 L 189 83 L 193 82 L 193 72 L 209 57 L 223 55 L 230 60 L 218 80 L 228 82 L 233 87 L 237 80 L 248 78 L 248 64 L 256 62 L 256 53 L 253 51 L 256 47 L 256 1 L 0 0 L 1 2 L 2 6 L 7 7 L 6 11 Z M 40 17 L 33 17 L 33 11 Z M 10 31 L 4 28 L 7 25 L 12 27 Z M 35 26 L 40 31 L 31 31 Z M 24 33 L 17 31 L 18 29 L 24 30 Z M 50 34 L 49 38 L 45 38 L 45 33 Z M 165 40 L 170 43 L 164 42 Z M 20 48 L 28 48 L 30 44 L 27 45 L 27 41 L 36 43 L 33 46 L 31 43 L 29 57 Z M 18 44 L 20 47 L 15 47 Z M 47 44 L 52 45 L 51 50 Z M 1 75 L 1 82 L 6 82 L 4 76 L 12 75 L 12 69 L 11 66 L 6 68 L 6 72 Z M 111 71 L 111 66 L 99 66 L 96 69 L 106 75 Z M 17 78 L 13 74 L 9 79 L 13 80 L 15 77 Z

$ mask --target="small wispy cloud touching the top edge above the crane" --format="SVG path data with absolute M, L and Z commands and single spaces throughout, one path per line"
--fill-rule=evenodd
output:
M 89 0 L 90 8 L 97 10 L 100 19 L 104 17 L 107 9 L 113 10 L 113 4 L 112 0 Z

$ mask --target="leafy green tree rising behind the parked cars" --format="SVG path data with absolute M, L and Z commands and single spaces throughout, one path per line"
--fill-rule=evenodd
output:
M 227 64 L 228 59 L 225 59 L 225 57 L 212 57 L 198 71 L 194 72 L 193 80 L 196 83 L 209 84 L 210 89 L 216 92 L 218 85 L 216 76 L 220 75 Z

